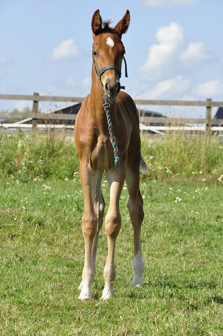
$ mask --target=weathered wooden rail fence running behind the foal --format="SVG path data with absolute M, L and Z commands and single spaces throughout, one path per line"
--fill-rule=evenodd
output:
M 42 120 L 74 120 L 76 119 L 76 115 L 74 114 L 44 114 L 44 113 L 38 113 L 38 103 L 39 101 L 72 101 L 72 102 L 82 102 L 83 97 L 61 97 L 61 96 L 40 96 L 39 93 L 35 92 L 33 95 L 14 95 L 14 94 L 1 94 L 0 99 L 7 99 L 7 100 L 32 100 L 33 101 L 33 111 L 31 113 L 0 113 L 0 119 L 2 118 L 32 118 L 32 128 L 33 130 L 37 127 L 37 121 L 38 119 Z M 206 118 L 180 118 L 180 125 L 177 125 L 177 119 L 176 118 L 162 118 L 162 117 L 146 117 L 142 116 L 140 117 L 140 123 L 168 123 L 170 125 L 174 125 L 174 129 L 177 127 L 182 128 L 189 128 L 187 124 L 205 124 L 205 130 L 207 134 L 211 134 L 211 130 L 221 130 L 221 127 L 212 127 L 212 124 L 215 125 L 222 125 L 222 119 L 211 119 L 211 108 L 212 107 L 223 107 L 223 102 L 220 101 L 212 101 L 212 99 L 206 99 L 206 101 L 188 101 L 188 100 L 147 100 L 147 99 L 134 99 L 134 102 L 136 105 L 165 105 L 165 106 L 200 106 L 200 107 L 206 107 Z M 10 124 L 4 124 L 5 127 L 10 127 Z M 24 127 L 23 124 L 13 124 L 14 127 Z M 23 125 L 23 126 L 22 126 Z M 176 126 L 175 126 L 176 125 Z M 3 126 L 3 124 L 1 124 Z M 12 124 L 11 124 L 12 126 Z M 26 124 L 27 126 L 27 124 Z M 38 125 L 39 128 L 40 125 Z M 62 125 L 57 125 L 61 126 Z M 67 125 L 66 127 L 68 127 Z M 30 128 L 31 126 L 27 127 Z M 73 127 L 73 126 L 72 126 Z M 173 126 L 146 126 L 146 128 L 143 128 L 141 126 L 141 129 L 149 129 L 151 130 L 165 130 L 165 129 L 171 129 Z M 196 126 L 191 127 L 191 130 L 195 130 L 195 128 L 204 129 L 202 126 Z M 159 132 L 159 131 L 158 131 Z

